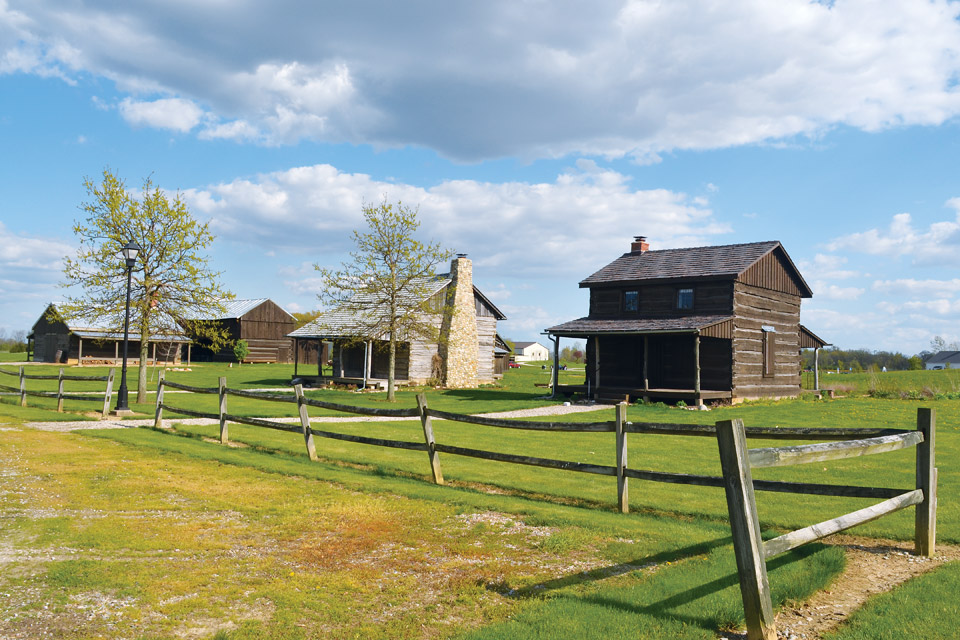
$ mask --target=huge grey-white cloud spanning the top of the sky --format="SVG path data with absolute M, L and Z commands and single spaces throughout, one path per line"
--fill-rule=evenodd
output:
M 158 97 L 184 101 L 135 121 L 208 138 L 419 145 L 466 159 L 650 162 L 960 113 L 960 5 L 947 0 L 544 6 L 11 0 L 0 5 L 0 73 L 88 72 L 155 111 Z M 188 104 L 210 123 L 197 128 Z

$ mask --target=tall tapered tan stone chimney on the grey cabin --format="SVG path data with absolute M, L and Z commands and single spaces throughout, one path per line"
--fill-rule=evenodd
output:
M 443 383 L 451 389 L 477 386 L 477 307 L 473 297 L 473 263 L 458 253 L 450 263 L 447 308 L 440 335 Z

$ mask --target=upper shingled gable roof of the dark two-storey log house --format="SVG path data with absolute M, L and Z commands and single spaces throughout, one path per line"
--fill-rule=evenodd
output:
M 813 295 L 783 246 L 776 240 L 713 247 L 625 253 L 580 281 L 581 287 L 643 280 L 736 279 L 766 255 L 777 252 L 801 296 Z

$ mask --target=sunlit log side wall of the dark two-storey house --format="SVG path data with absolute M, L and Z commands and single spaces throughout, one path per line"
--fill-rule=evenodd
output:
M 734 286 L 733 395 L 796 396 L 800 392 L 800 296 L 746 283 Z M 763 375 L 763 329 L 773 327 L 773 375 Z

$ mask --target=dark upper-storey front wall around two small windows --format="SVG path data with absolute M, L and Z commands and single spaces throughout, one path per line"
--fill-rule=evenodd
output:
M 693 289 L 693 308 L 677 309 L 677 291 Z M 637 291 L 637 311 L 623 310 L 623 294 Z M 635 284 L 623 287 L 590 289 L 591 318 L 666 318 L 682 315 L 729 314 L 733 312 L 733 283 L 677 282 L 671 284 Z

